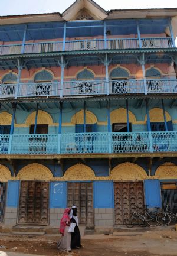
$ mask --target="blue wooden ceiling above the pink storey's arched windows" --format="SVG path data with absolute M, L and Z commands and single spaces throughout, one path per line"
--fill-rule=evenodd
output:
M 112 52 L 113 50 L 108 50 Z M 142 50 L 115 50 L 116 53 L 110 54 L 109 58 L 112 64 L 137 64 L 136 56 L 138 57 L 140 52 L 145 52 L 146 63 L 168 63 L 172 61 L 171 55 L 173 52 L 177 51 L 177 48 L 171 49 L 148 49 Z M 129 52 L 132 52 L 131 54 Z M 158 52 L 157 52 L 158 51 Z M 105 51 L 104 51 L 105 52 Z M 78 55 L 78 53 L 73 53 L 73 56 L 67 56 L 68 66 L 93 66 L 93 65 L 103 65 L 104 54 L 100 51 L 97 53 L 89 53 L 86 51 L 87 55 L 83 55 L 83 52 Z M 71 53 L 68 53 L 71 54 Z M 134 55 L 133 55 L 134 54 Z M 30 58 L 29 58 L 30 55 Z M 59 67 L 58 60 L 60 59 L 60 53 L 38 53 L 38 54 L 23 54 L 24 68 L 30 69 L 32 67 Z M 75 56 L 74 56 L 75 55 Z M 76 56 L 77 55 L 77 56 Z M 41 56 L 41 57 L 40 57 Z M 51 57 L 50 57 L 51 56 Z M 21 55 L 16 56 L 0 56 L 0 69 L 17 69 L 17 57 L 22 57 Z

